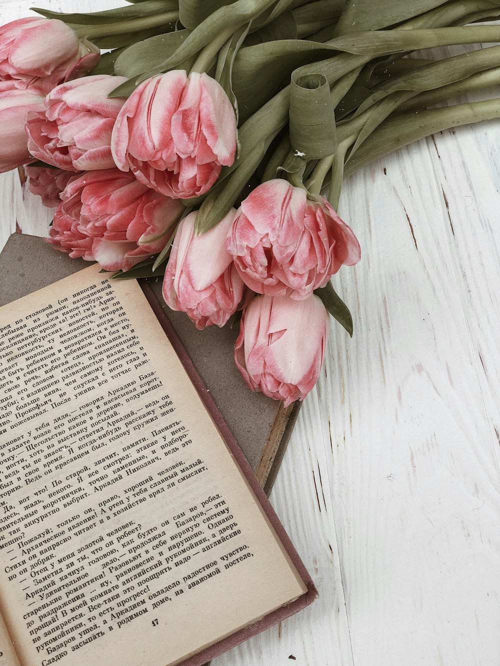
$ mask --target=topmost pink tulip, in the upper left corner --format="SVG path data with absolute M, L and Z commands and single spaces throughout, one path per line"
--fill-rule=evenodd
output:
M 63 21 L 29 17 L 0 27 L 0 79 L 47 95 L 97 67 L 99 49 L 79 41 Z

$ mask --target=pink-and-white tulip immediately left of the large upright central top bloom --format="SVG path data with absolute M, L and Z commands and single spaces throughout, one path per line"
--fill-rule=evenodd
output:
M 67 171 L 115 167 L 111 132 L 125 98 L 107 95 L 124 81 L 101 74 L 54 88 L 44 111 L 28 117 L 31 155 Z

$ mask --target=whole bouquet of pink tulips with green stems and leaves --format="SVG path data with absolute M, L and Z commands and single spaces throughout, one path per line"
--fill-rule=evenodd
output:
M 163 276 L 198 328 L 239 320 L 249 388 L 302 400 L 329 315 L 353 333 L 343 178 L 500 117 L 489 91 L 453 102 L 500 83 L 500 47 L 435 50 L 500 42 L 500 0 L 127 1 L 0 29 L 0 170 L 57 206 L 55 247 Z

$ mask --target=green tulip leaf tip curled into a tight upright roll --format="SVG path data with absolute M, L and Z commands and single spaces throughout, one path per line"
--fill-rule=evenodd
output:
M 333 155 L 337 149 L 335 105 L 323 75 L 292 75 L 290 142 L 306 161 Z

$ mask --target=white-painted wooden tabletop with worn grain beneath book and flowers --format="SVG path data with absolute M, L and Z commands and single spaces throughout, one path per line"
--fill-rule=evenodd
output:
M 271 495 L 320 598 L 214 666 L 499 665 L 499 147 L 500 123 L 463 128 L 345 183 L 355 336 L 333 327 Z M 0 188 L 0 246 L 46 234 L 16 174 Z

